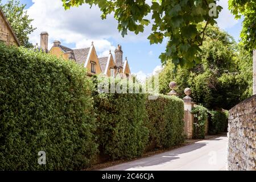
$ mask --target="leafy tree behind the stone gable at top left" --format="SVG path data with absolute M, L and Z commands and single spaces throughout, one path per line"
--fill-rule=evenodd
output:
M 32 44 L 28 42 L 28 35 L 36 28 L 31 25 L 33 19 L 30 19 L 27 15 L 26 5 L 20 4 L 19 0 L 9 0 L 5 4 L 2 4 L 0 0 L 0 7 L 3 13 L 5 13 L 20 44 L 25 47 L 31 47 Z

